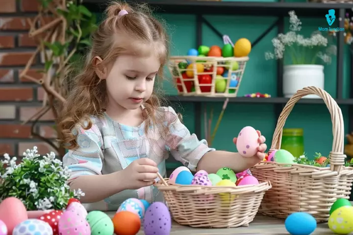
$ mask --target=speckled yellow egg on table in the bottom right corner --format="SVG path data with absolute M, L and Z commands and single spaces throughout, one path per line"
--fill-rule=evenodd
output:
M 344 206 L 336 209 L 328 218 L 328 228 L 335 234 L 353 232 L 353 207 Z

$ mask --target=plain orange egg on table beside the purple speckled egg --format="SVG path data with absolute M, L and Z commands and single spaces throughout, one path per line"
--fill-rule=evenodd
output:
M 136 235 L 141 228 L 139 216 L 130 211 L 120 211 L 112 218 L 114 233 L 117 235 Z

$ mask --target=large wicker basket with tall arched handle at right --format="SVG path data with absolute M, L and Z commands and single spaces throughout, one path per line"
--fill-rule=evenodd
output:
M 307 94 L 320 96 L 331 114 L 333 144 L 329 153 L 330 167 L 260 162 L 251 171 L 258 180 L 271 181 L 272 184 L 262 200 L 260 213 L 286 218 L 293 212 L 305 211 L 321 223 L 328 221 L 330 207 L 337 198 L 349 199 L 353 181 L 353 168 L 344 166 L 344 125 L 336 101 L 326 91 L 316 87 L 297 91 L 278 118 L 270 151 L 280 149 L 284 123 L 294 104 Z

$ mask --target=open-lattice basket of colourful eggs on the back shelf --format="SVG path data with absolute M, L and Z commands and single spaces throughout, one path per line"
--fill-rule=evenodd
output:
M 249 57 L 172 56 L 169 60 L 169 70 L 179 95 L 235 97 L 248 60 Z M 193 64 L 193 68 L 180 68 L 180 63 Z M 239 65 L 235 71 L 232 70 L 233 63 Z M 198 71 L 199 67 L 203 69 Z M 226 89 L 222 92 L 216 90 L 218 67 L 221 67 L 220 70 L 227 71 L 228 74 L 227 77 L 222 78 L 226 81 Z M 191 74 L 191 76 L 185 74 Z M 212 83 L 200 84 L 199 79 L 202 75 L 210 76 Z

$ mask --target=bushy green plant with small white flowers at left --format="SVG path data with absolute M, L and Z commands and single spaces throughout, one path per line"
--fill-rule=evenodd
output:
M 84 193 L 71 191 L 66 184 L 70 171 L 55 159 L 53 152 L 41 157 L 37 147 L 27 149 L 19 164 L 17 158 L 4 154 L 0 161 L 0 202 L 7 197 L 20 199 L 27 211 L 62 210 L 70 198 Z

